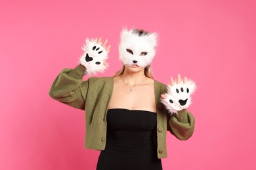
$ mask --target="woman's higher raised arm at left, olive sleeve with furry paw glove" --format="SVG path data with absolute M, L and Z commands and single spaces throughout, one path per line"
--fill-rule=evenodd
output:
M 61 103 L 84 110 L 90 78 L 83 81 L 83 76 L 106 69 L 107 54 L 110 50 L 110 45 L 106 46 L 107 41 L 106 39 L 101 42 L 100 38 L 87 39 L 86 45 L 82 48 L 84 53 L 79 60 L 80 64 L 74 69 L 63 69 L 55 78 L 49 95 Z

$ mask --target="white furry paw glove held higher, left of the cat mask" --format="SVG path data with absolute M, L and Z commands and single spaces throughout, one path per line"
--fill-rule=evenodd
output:
M 89 41 L 87 39 L 85 46 L 82 50 L 83 55 L 80 58 L 81 65 L 86 67 L 86 71 L 89 75 L 96 74 L 96 72 L 103 72 L 107 65 L 104 62 L 108 58 L 108 52 L 100 44 L 96 43 L 96 40 Z

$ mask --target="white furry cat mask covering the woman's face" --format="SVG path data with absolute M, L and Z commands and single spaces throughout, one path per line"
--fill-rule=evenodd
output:
M 139 67 L 150 65 L 156 54 L 157 34 L 135 32 L 135 29 L 121 31 L 119 58 L 124 65 L 137 64 Z

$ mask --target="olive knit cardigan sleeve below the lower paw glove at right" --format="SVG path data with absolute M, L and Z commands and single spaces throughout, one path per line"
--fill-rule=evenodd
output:
M 167 124 L 167 129 L 182 141 L 189 139 L 194 133 L 195 119 L 186 109 L 168 116 Z

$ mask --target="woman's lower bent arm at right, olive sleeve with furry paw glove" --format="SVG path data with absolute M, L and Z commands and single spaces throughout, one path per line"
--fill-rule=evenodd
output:
M 190 94 L 194 92 L 196 85 L 186 77 L 182 81 L 181 75 L 178 75 L 177 82 L 171 77 L 167 88 L 168 92 L 161 95 L 161 102 L 169 112 L 167 129 L 178 139 L 187 140 L 192 136 L 195 126 L 194 116 L 187 108 L 191 103 Z

